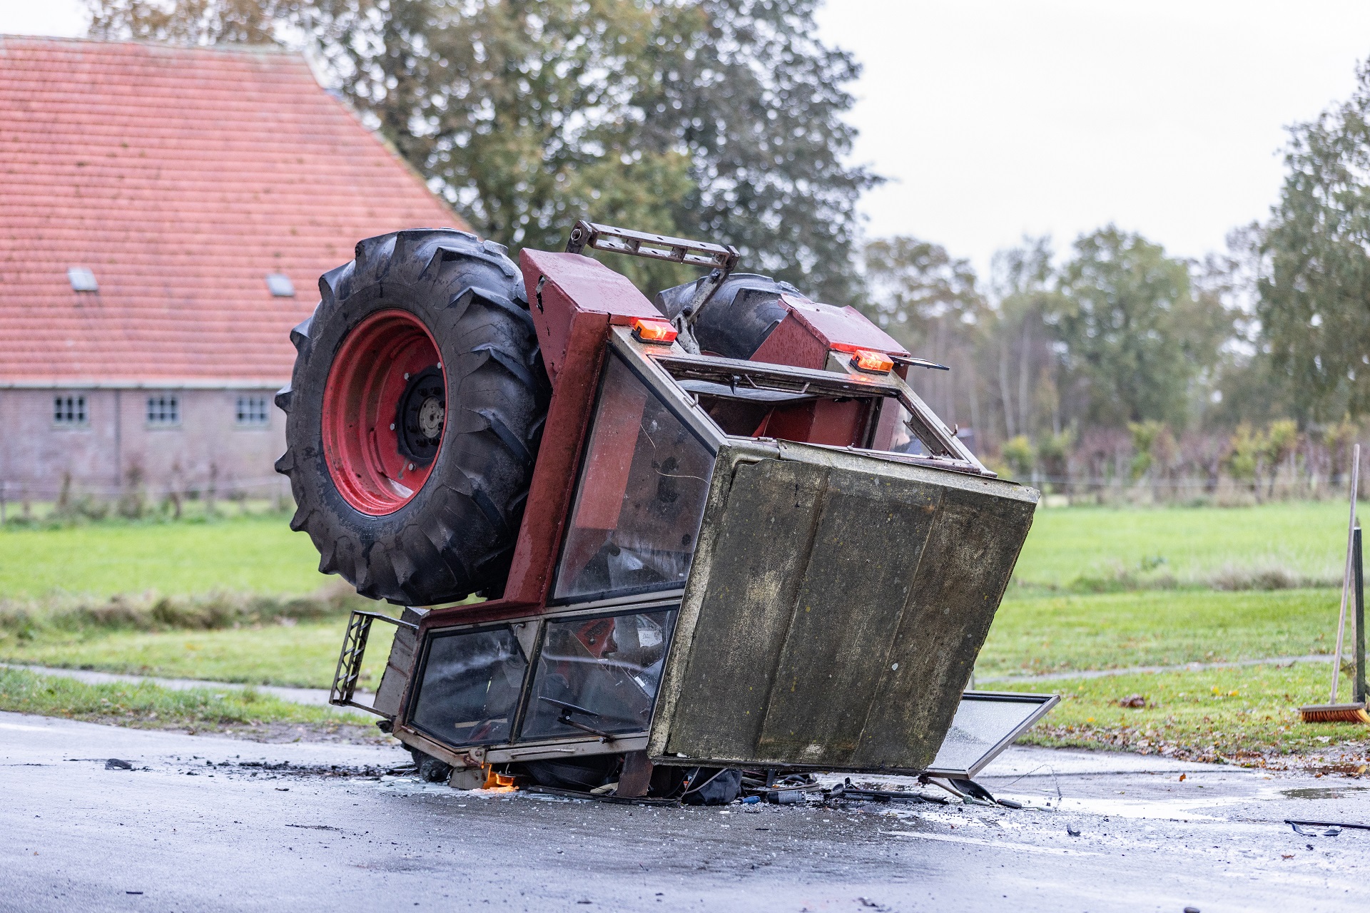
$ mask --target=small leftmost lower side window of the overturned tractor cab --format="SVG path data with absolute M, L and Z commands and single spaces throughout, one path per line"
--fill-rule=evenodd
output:
M 506 742 L 526 669 L 507 627 L 434 636 L 411 721 L 452 746 Z

